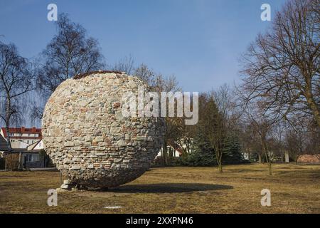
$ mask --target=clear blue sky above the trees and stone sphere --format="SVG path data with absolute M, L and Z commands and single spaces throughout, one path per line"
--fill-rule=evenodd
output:
M 164 75 L 174 74 L 186 91 L 205 91 L 240 80 L 238 59 L 257 33 L 260 6 L 272 12 L 284 0 L 0 0 L 2 41 L 22 56 L 38 55 L 55 33 L 47 6 L 84 26 L 100 42 L 107 63 L 133 56 Z M 274 14 L 272 14 L 274 16 Z

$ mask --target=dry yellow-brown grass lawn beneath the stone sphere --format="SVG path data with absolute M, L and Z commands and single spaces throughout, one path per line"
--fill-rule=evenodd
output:
M 0 213 L 320 213 L 320 165 L 151 168 L 127 185 L 107 191 L 47 191 L 59 172 L 0 172 Z M 272 206 L 260 191 L 270 189 Z M 119 209 L 105 207 L 119 206 Z

